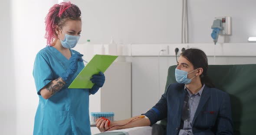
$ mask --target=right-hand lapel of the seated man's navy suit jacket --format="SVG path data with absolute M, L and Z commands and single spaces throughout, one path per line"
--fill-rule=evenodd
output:
M 203 93 L 201 95 L 201 98 L 200 98 L 200 101 L 199 101 L 199 104 L 197 106 L 197 111 L 194 115 L 194 119 L 193 119 L 193 122 L 192 122 L 192 126 L 194 124 L 194 121 L 195 119 L 197 119 L 197 116 L 200 112 L 202 112 L 202 109 L 203 109 L 203 106 L 205 105 L 205 103 L 207 102 L 207 100 L 209 99 L 210 97 L 210 89 L 205 86 L 204 89 L 203 89 Z

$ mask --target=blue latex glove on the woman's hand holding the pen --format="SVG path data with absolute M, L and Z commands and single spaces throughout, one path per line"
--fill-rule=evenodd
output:
M 75 71 L 77 70 L 78 67 L 78 61 L 83 61 L 82 60 L 82 56 L 81 54 L 74 54 L 69 58 L 69 69 L 66 70 L 65 73 L 63 73 L 60 77 L 62 78 L 62 80 L 64 80 L 65 82 L 67 82 L 70 78 L 71 75 L 73 75 L 75 73 Z

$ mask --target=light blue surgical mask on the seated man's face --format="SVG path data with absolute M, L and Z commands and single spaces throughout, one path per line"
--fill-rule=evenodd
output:
M 197 70 L 197 69 L 196 69 Z M 194 70 L 194 71 L 196 71 L 196 70 Z M 194 76 L 194 77 L 192 77 L 191 79 L 189 79 L 189 78 L 187 78 L 187 74 L 190 74 L 190 73 L 192 73 L 192 72 L 194 72 L 194 71 L 191 71 L 191 72 L 189 72 L 189 73 L 187 73 L 187 71 L 182 71 L 182 70 L 179 70 L 179 69 L 175 69 L 175 78 L 176 78 L 176 81 L 178 82 L 178 83 L 181 83 L 181 84 L 190 84 L 191 83 L 191 80 L 194 78 L 194 77 L 196 77 L 196 76 Z

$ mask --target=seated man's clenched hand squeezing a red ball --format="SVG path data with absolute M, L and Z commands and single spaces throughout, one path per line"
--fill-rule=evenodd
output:
M 110 124 L 108 126 L 109 122 L 110 122 Z M 102 118 L 96 119 L 95 124 L 96 124 L 96 126 L 97 126 L 97 128 L 100 132 L 105 132 L 106 130 L 111 131 L 111 130 L 117 129 L 116 127 L 112 127 L 112 126 L 114 126 L 115 122 L 111 122 L 109 120 L 105 120 L 105 119 L 102 119 Z M 111 129 L 109 129 L 109 128 L 111 128 Z

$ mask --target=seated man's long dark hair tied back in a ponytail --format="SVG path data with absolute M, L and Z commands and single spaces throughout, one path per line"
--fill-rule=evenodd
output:
M 207 75 L 208 60 L 207 56 L 202 50 L 190 48 L 181 53 L 181 56 L 190 61 L 193 64 L 194 69 L 197 69 L 199 67 L 203 68 L 203 74 L 200 75 L 202 84 L 205 84 L 208 87 L 215 87 L 215 85 L 212 83 L 212 81 Z

